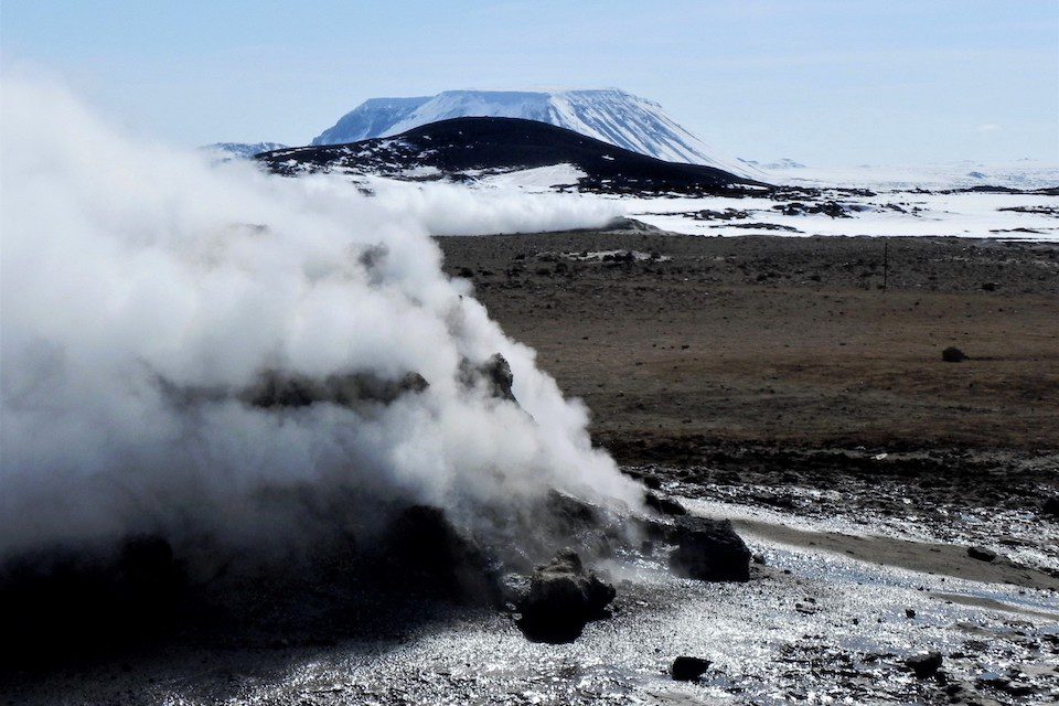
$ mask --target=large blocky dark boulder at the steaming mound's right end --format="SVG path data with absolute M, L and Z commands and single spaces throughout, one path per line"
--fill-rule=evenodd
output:
M 746 581 L 750 578 L 750 549 L 728 520 L 684 516 L 677 521 L 677 547 L 670 568 L 680 576 L 704 581 Z

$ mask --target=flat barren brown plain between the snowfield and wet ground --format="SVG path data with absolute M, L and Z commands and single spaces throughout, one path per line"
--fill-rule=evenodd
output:
M 1055 245 L 634 227 L 438 243 L 619 454 L 1059 449 Z M 943 362 L 953 345 L 967 360 Z

